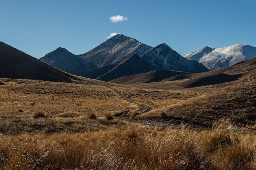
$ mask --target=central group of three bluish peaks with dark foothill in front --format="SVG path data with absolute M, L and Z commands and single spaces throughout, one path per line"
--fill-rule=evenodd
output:
M 68 73 L 103 81 L 159 69 L 209 71 L 203 64 L 182 57 L 166 44 L 153 48 L 122 34 L 84 54 L 75 55 L 59 47 L 40 60 Z

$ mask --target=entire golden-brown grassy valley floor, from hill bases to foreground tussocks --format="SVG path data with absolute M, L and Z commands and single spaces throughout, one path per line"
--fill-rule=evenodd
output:
M 1 80 L 0 169 L 256 169 L 255 79 L 169 89 Z

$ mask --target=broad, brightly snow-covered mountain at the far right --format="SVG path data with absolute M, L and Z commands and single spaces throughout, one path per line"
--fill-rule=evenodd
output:
M 187 55 L 186 58 L 188 58 Z M 256 57 L 256 47 L 235 44 L 228 47 L 216 48 L 205 53 L 199 59 L 199 63 L 204 64 L 210 70 L 214 70 L 225 66 L 231 66 L 253 57 Z M 190 56 L 190 58 L 193 60 L 193 56 Z

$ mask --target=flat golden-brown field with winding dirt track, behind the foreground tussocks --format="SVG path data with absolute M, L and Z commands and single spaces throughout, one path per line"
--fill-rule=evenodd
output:
M 59 83 L 2 79 L 0 132 L 2 134 L 84 132 L 106 129 L 131 120 L 130 114 L 146 114 L 212 91 L 161 90 L 127 86 Z M 121 115 L 126 111 L 126 115 Z M 34 119 L 42 112 L 46 117 Z M 97 119 L 88 118 L 96 114 Z M 108 121 L 106 114 L 116 115 Z M 120 119 L 119 119 L 120 118 Z M 168 123 L 168 122 L 167 122 Z

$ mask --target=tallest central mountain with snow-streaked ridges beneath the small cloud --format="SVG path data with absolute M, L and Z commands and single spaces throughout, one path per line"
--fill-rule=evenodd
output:
M 134 54 L 140 56 L 152 48 L 153 47 L 145 45 L 136 39 L 117 34 L 94 49 L 84 54 L 80 54 L 79 56 L 88 62 L 93 63 L 97 67 L 103 67 L 128 58 Z

